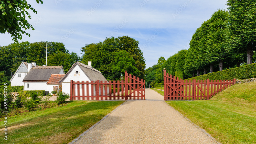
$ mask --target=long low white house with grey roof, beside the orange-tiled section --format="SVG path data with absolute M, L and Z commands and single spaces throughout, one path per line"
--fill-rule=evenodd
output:
M 24 90 L 47 91 L 47 82 L 51 74 L 65 74 L 62 66 L 33 67 L 24 77 Z

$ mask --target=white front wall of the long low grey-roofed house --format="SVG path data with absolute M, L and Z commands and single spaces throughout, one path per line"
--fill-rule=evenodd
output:
M 27 84 L 29 83 L 29 88 Z M 25 91 L 47 91 L 47 81 L 46 82 L 24 82 Z

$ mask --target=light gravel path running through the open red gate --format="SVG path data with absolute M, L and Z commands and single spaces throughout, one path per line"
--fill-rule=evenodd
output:
M 82 143 L 215 143 L 146 88 L 146 100 L 127 101 L 75 144 Z

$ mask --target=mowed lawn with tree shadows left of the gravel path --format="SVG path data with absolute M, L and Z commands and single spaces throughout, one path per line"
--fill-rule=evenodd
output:
M 0 143 L 69 143 L 123 102 L 73 101 L 60 107 L 8 117 L 8 140 L 1 138 Z M 2 137 L 4 126 L 0 124 Z

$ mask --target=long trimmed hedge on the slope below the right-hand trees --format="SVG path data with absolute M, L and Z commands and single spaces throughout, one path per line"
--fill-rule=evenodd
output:
M 231 79 L 249 79 L 256 77 L 256 63 L 244 65 L 233 69 L 208 73 L 196 77 L 191 77 L 186 80 L 231 80 Z

